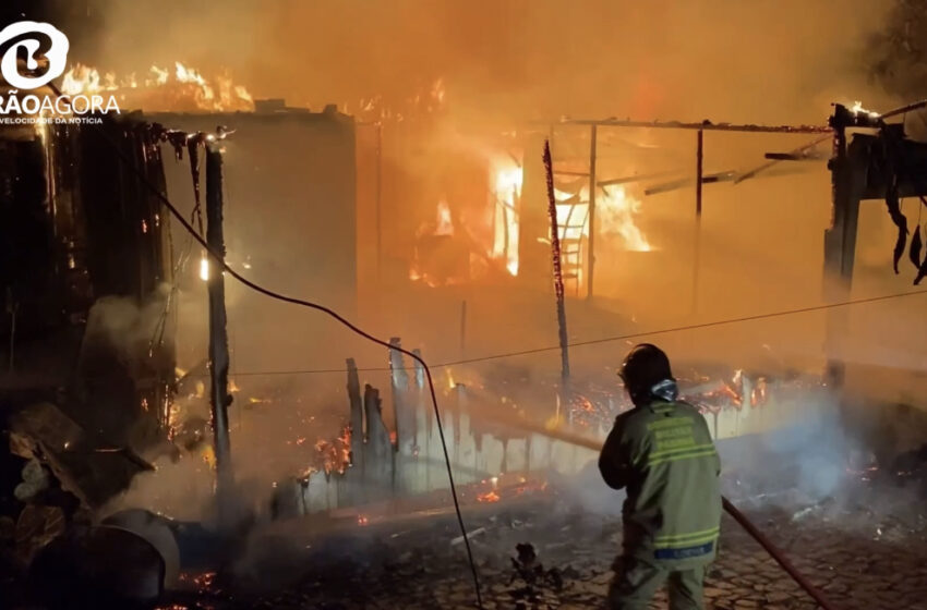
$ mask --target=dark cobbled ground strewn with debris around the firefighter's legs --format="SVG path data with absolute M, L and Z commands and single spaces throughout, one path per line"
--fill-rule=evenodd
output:
M 915 566 L 924 560 L 924 515 L 910 505 L 894 508 L 894 515 L 881 512 L 872 507 L 879 507 L 884 489 L 852 489 L 853 502 L 798 518 L 790 514 L 807 510 L 800 501 L 749 510 L 841 607 L 923 608 L 924 574 Z M 599 607 L 612 578 L 621 524 L 614 513 L 591 513 L 576 498 L 575 489 L 552 486 L 490 512 L 465 510 L 486 608 Z M 887 526 L 892 522 L 904 525 Z M 886 534 L 890 528 L 892 536 Z M 454 530 L 449 515 L 422 511 L 364 525 L 348 522 L 312 537 L 292 529 L 258 535 L 238 587 L 202 586 L 201 578 L 192 591 L 174 594 L 161 607 L 470 608 Z M 721 545 L 723 552 L 708 576 L 709 607 L 814 608 L 733 521 L 722 524 Z M 903 571 L 887 577 L 895 565 Z M 279 578 L 288 584 L 282 587 Z M 287 593 L 278 593 L 281 588 Z

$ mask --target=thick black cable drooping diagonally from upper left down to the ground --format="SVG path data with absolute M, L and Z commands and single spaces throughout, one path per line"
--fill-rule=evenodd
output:
M 55 93 L 59 97 L 61 97 L 62 94 L 58 89 L 58 87 L 56 87 L 53 84 L 49 84 L 49 85 L 51 86 L 52 90 L 55 90 Z M 410 358 L 414 359 L 420 365 L 422 365 L 422 368 L 425 371 L 425 376 L 428 377 L 429 390 L 431 392 L 431 399 L 432 399 L 432 406 L 434 407 L 435 424 L 437 425 L 438 436 L 441 437 L 441 447 L 442 447 L 442 450 L 444 451 L 444 462 L 445 462 L 445 465 L 447 466 L 447 478 L 448 478 L 448 481 L 450 484 L 450 495 L 452 495 L 452 498 L 454 499 L 454 510 L 455 510 L 455 513 L 457 515 L 457 523 L 460 526 L 460 533 L 464 536 L 464 545 L 467 549 L 467 559 L 470 563 L 470 572 L 472 573 L 472 576 L 473 576 L 473 587 L 474 587 L 474 591 L 475 591 L 475 595 L 477 595 L 477 606 L 482 609 L 483 608 L 483 599 L 482 599 L 482 595 L 481 595 L 481 591 L 480 591 L 480 578 L 479 578 L 479 575 L 477 574 L 477 563 L 473 560 L 473 551 L 470 548 L 470 538 L 467 534 L 467 527 L 464 524 L 464 515 L 460 511 L 460 502 L 459 502 L 459 499 L 457 497 L 457 489 L 456 489 L 456 486 L 454 484 L 454 473 L 453 473 L 453 469 L 452 469 L 452 466 L 450 466 L 450 454 L 447 451 L 447 442 L 446 442 L 445 437 L 444 437 L 444 426 L 441 423 L 441 410 L 437 406 L 437 394 L 436 394 L 435 389 L 434 389 L 434 381 L 432 380 L 431 369 L 429 368 L 428 363 L 425 363 L 425 361 L 421 356 L 419 356 L 418 354 L 414 354 L 413 352 L 408 351 L 404 347 L 393 345 L 393 344 L 390 344 L 386 341 L 383 341 L 382 339 L 377 339 L 373 334 L 370 334 L 369 332 L 358 328 L 357 326 L 354 326 L 352 322 L 348 321 L 346 318 L 344 318 L 340 314 L 338 314 L 334 309 L 329 309 L 328 307 L 326 307 L 324 305 L 320 305 L 320 304 L 313 303 L 311 301 L 304 301 L 302 298 L 297 298 L 294 296 L 287 296 L 285 294 L 280 294 L 278 292 L 273 291 L 273 290 L 266 289 L 266 288 L 264 288 L 264 286 L 262 286 L 257 283 L 254 283 L 251 280 L 249 280 L 248 278 L 241 276 L 238 271 L 236 271 L 234 269 L 229 267 L 228 264 L 226 264 L 225 257 L 222 255 L 214 252 L 209 247 L 209 244 L 206 243 L 206 240 L 204 240 L 196 232 L 196 230 L 193 228 L 193 225 L 190 224 L 190 222 L 186 221 L 186 219 L 183 217 L 183 215 L 180 213 L 180 210 L 178 210 L 174 207 L 174 205 L 170 202 L 170 199 L 168 199 L 167 195 L 161 193 L 160 188 L 158 188 L 156 185 L 152 184 L 152 182 L 148 180 L 148 178 L 144 173 L 142 173 L 142 171 L 139 168 L 135 167 L 135 163 L 132 162 L 132 159 L 128 158 L 128 156 L 119 148 L 119 146 L 103 130 L 95 129 L 95 130 L 92 130 L 92 131 L 94 131 L 94 132 L 96 132 L 97 134 L 100 135 L 100 137 L 113 149 L 113 151 L 119 157 L 119 159 L 122 161 L 122 163 L 127 168 L 129 168 L 129 170 L 132 173 L 134 173 L 136 175 L 136 178 L 141 181 L 141 183 L 144 184 L 145 187 L 148 191 L 151 191 L 161 202 L 161 204 L 165 205 L 165 207 L 168 209 L 168 211 L 170 211 L 170 213 L 177 219 L 177 221 L 180 222 L 180 224 L 183 227 L 183 229 L 188 233 L 190 233 L 190 235 L 192 235 L 193 239 L 201 246 L 203 246 L 204 251 L 216 263 L 216 265 L 218 265 L 219 268 L 222 269 L 225 272 L 227 272 L 229 276 L 231 276 L 232 278 L 234 278 L 236 280 L 238 280 L 240 283 L 244 284 L 245 286 L 250 288 L 251 290 L 258 292 L 258 293 L 261 293 L 265 296 L 268 296 L 270 298 L 274 298 L 274 300 L 277 300 L 277 301 L 282 301 L 285 303 L 292 303 L 293 305 L 300 305 L 302 307 L 315 309 L 316 312 L 322 312 L 323 314 L 334 318 L 335 320 L 340 322 L 342 326 L 350 329 L 352 332 L 363 337 L 368 341 L 371 341 L 371 342 L 376 343 L 377 345 L 382 345 L 384 347 L 388 347 L 390 350 L 396 350 L 397 352 L 400 352 L 400 353 L 409 356 Z M 206 146 L 209 146 L 209 145 L 207 144 Z

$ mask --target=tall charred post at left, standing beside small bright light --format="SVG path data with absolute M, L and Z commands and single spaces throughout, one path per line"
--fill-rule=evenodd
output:
M 206 243 L 209 249 L 226 256 L 222 234 L 222 154 L 216 145 L 206 147 Z M 229 442 L 228 407 L 232 402 L 229 394 L 229 339 L 226 329 L 226 286 L 222 267 L 214 260 L 209 273 L 209 374 L 212 379 L 210 403 L 213 410 L 213 434 L 216 449 L 216 490 L 219 509 L 225 493 L 232 483 L 231 447 Z

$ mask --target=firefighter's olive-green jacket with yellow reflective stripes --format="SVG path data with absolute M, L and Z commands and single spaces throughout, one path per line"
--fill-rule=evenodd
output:
M 610 487 L 627 488 L 625 556 L 670 570 L 714 559 L 721 461 L 698 410 L 654 401 L 622 413 L 602 447 L 599 469 Z

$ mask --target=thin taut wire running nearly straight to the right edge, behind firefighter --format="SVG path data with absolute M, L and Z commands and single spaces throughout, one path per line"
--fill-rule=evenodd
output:
M 779 318 L 779 317 L 784 317 L 784 316 L 793 316 L 793 315 L 796 315 L 796 314 L 808 314 L 808 313 L 814 313 L 814 312 L 823 312 L 823 310 L 833 309 L 833 308 L 836 308 L 836 307 L 848 307 L 851 305 L 863 305 L 863 304 L 866 304 L 866 303 L 877 303 L 877 302 L 880 302 L 880 301 L 891 301 L 891 300 L 894 300 L 894 298 L 901 298 L 901 297 L 904 297 L 904 296 L 916 296 L 916 295 L 920 295 L 920 294 L 927 294 L 927 290 L 915 290 L 915 291 L 911 291 L 911 292 L 900 292 L 900 293 L 895 293 L 895 294 L 883 294 L 883 295 L 880 295 L 880 296 L 870 296 L 870 297 L 867 297 L 867 298 L 856 298 L 856 300 L 852 300 L 852 301 L 842 301 L 842 302 L 839 302 L 839 303 L 828 303 L 828 304 L 824 304 L 824 305 L 814 305 L 814 306 L 810 306 L 810 307 L 802 307 L 799 309 L 786 309 L 786 310 L 783 310 L 783 312 L 772 312 L 772 313 L 769 313 L 769 314 L 756 314 L 756 315 L 753 315 L 753 316 L 743 316 L 743 317 L 739 317 L 739 318 L 727 318 L 727 319 L 724 319 L 724 320 L 714 320 L 714 321 L 710 321 L 710 322 L 701 322 L 701 324 L 695 324 L 695 325 L 677 326 L 677 327 L 672 327 L 672 328 L 662 328 L 662 329 L 658 329 L 658 330 L 631 332 L 631 333 L 628 333 L 628 334 L 617 334 L 617 335 L 613 335 L 613 337 L 602 337 L 602 338 L 599 338 L 599 339 L 589 339 L 589 340 L 586 340 L 586 341 L 575 341 L 573 343 L 568 343 L 567 345 L 569 347 L 582 347 L 582 346 L 586 346 L 586 345 L 595 345 L 595 344 L 599 344 L 599 343 L 610 343 L 610 342 L 613 342 L 613 341 L 625 341 L 625 340 L 628 340 L 628 339 L 640 339 L 642 337 L 652 337 L 654 334 L 670 334 L 670 333 L 673 333 L 673 332 L 683 332 L 683 331 L 686 331 L 686 330 L 699 330 L 699 329 L 705 329 L 705 328 L 713 328 L 713 327 L 717 327 L 717 326 L 725 326 L 725 325 L 742 324 L 742 322 L 751 322 L 751 321 L 756 321 L 756 320 L 765 320 L 765 319 Z M 502 359 L 502 358 L 513 358 L 513 357 L 516 357 L 516 356 L 540 354 L 540 353 L 543 353 L 543 352 L 554 352 L 554 351 L 558 351 L 559 349 L 561 349 L 559 345 L 551 345 L 551 346 L 547 346 L 547 347 L 533 347 L 533 349 L 530 349 L 530 350 L 520 350 L 520 351 L 517 351 L 517 352 L 503 352 L 503 353 L 499 353 L 499 354 L 490 354 L 487 356 L 478 356 L 478 357 L 472 357 L 472 358 L 465 358 L 465 359 L 459 359 L 459 361 L 449 361 L 449 362 L 445 362 L 445 363 L 433 364 L 433 365 L 431 365 L 431 367 L 432 368 L 446 368 L 446 367 L 449 367 L 449 366 L 458 366 L 458 365 L 461 365 L 461 364 L 474 364 L 474 363 L 489 362 L 489 361 L 495 361 L 495 359 Z M 359 368 L 358 370 L 359 371 L 389 371 L 389 370 L 393 370 L 393 369 L 389 368 L 389 367 L 383 366 L 383 367 Z M 412 370 L 412 368 L 406 367 L 406 370 Z M 270 376 L 270 375 L 310 375 L 310 374 L 316 374 L 316 373 L 318 373 L 318 374 L 322 374 L 322 373 L 348 373 L 348 369 L 347 368 L 318 368 L 318 369 L 297 369 L 297 370 L 250 370 L 250 371 L 240 371 L 236 375 L 239 376 L 239 377 L 257 377 L 257 376 L 265 376 L 265 375 L 266 376 Z

